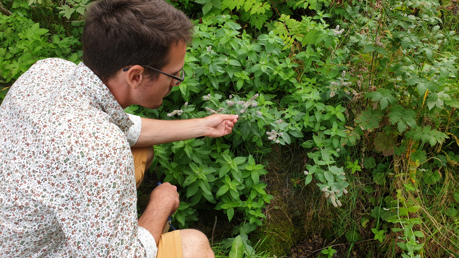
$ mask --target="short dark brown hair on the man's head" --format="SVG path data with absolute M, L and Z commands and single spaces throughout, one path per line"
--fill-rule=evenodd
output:
M 164 0 L 99 0 L 86 14 L 83 62 L 104 80 L 126 66 L 162 69 L 169 47 L 188 42 L 192 28 L 185 14 Z M 158 76 L 145 71 L 151 79 Z

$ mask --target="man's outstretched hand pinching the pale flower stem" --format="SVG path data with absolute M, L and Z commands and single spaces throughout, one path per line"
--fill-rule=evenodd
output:
M 213 114 L 202 118 L 205 127 L 204 136 L 215 138 L 229 135 L 233 131 L 238 117 L 238 115 Z

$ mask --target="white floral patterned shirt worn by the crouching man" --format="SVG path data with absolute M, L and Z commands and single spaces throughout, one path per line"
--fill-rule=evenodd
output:
M 137 225 L 132 125 L 83 63 L 24 73 L 0 107 L 0 257 L 155 258 Z

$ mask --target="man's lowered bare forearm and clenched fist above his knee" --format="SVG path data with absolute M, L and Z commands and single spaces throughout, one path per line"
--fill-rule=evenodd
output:
M 174 185 L 163 183 L 151 192 L 150 202 L 137 222 L 140 227 L 150 231 L 156 244 L 159 242 L 168 217 L 174 214 L 179 204 L 179 193 Z

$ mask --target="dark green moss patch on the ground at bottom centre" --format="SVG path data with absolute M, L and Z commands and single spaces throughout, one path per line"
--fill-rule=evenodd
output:
M 305 237 L 306 232 L 302 228 L 294 227 L 288 220 L 271 222 L 257 228 L 250 238 L 254 245 L 264 240 L 263 244 L 257 248 L 259 252 L 266 251 L 282 257 L 288 255 L 291 247 Z

